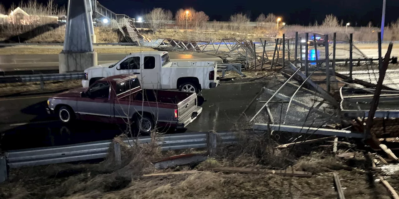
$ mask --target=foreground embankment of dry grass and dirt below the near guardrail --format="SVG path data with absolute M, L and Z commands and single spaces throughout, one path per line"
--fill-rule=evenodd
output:
M 381 175 L 362 152 L 338 145 L 338 153 L 354 152 L 354 157 L 336 157 L 322 143 L 276 149 L 274 138 L 267 135 L 237 134 L 240 141 L 219 146 L 215 158 L 199 165 L 177 166 L 156 170 L 151 164 L 162 157 L 192 150 L 161 152 L 155 142 L 138 148 L 122 144 L 122 166 L 114 165 L 113 151 L 100 164 L 57 164 L 14 169 L 10 179 L 0 185 L 2 198 L 267 198 L 331 199 L 337 197 L 333 172 L 341 179 L 348 199 L 388 199 L 385 187 L 374 180 Z M 331 144 L 331 143 L 330 143 Z M 110 148 L 113 148 L 112 146 Z M 171 171 L 209 170 L 215 166 L 287 169 L 312 172 L 312 177 L 286 177 L 276 174 L 231 174 L 204 171 L 195 174 L 144 178 L 143 174 Z M 40 171 L 40 172 L 39 172 Z M 399 186 L 399 173 L 387 181 Z

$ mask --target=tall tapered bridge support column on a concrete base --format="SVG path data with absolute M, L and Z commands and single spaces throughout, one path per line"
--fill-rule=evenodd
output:
M 88 2 L 90 0 L 68 0 L 64 48 L 59 54 L 59 73 L 82 71 L 97 65 L 97 52 L 93 49 L 93 21 L 88 14 L 91 4 L 88 6 Z

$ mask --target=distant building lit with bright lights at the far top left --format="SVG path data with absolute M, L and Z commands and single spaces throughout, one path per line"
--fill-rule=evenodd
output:
M 0 24 L 20 24 L 20 25 L 33 25 L 33 24 L 47 24 L 57 23 L 57 16 L 49 15 L 30 15 L 22 8 L 15 8 L 10 14 L 0 14 Z

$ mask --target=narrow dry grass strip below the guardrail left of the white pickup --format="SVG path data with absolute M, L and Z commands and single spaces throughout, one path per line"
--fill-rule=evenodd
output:
M 77 88 L 79 86 L 82 86 L 81 80 L 46 81 L 44 83 L 44 90 L 41 90 L 40 82 L 0 84 L 0 96 L 57 91 L 68 88 Z

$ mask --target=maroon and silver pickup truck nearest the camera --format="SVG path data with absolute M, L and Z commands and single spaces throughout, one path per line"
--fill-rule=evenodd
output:
M 201 113 L 195 93 L 143 90 L 136 76 L 117 75 L 89 88 L 63 92 L 47 100 L 47 113 L 63 123 L 73 119 L 130 123 L 142 133 L 155 126 L 184 128 Z

